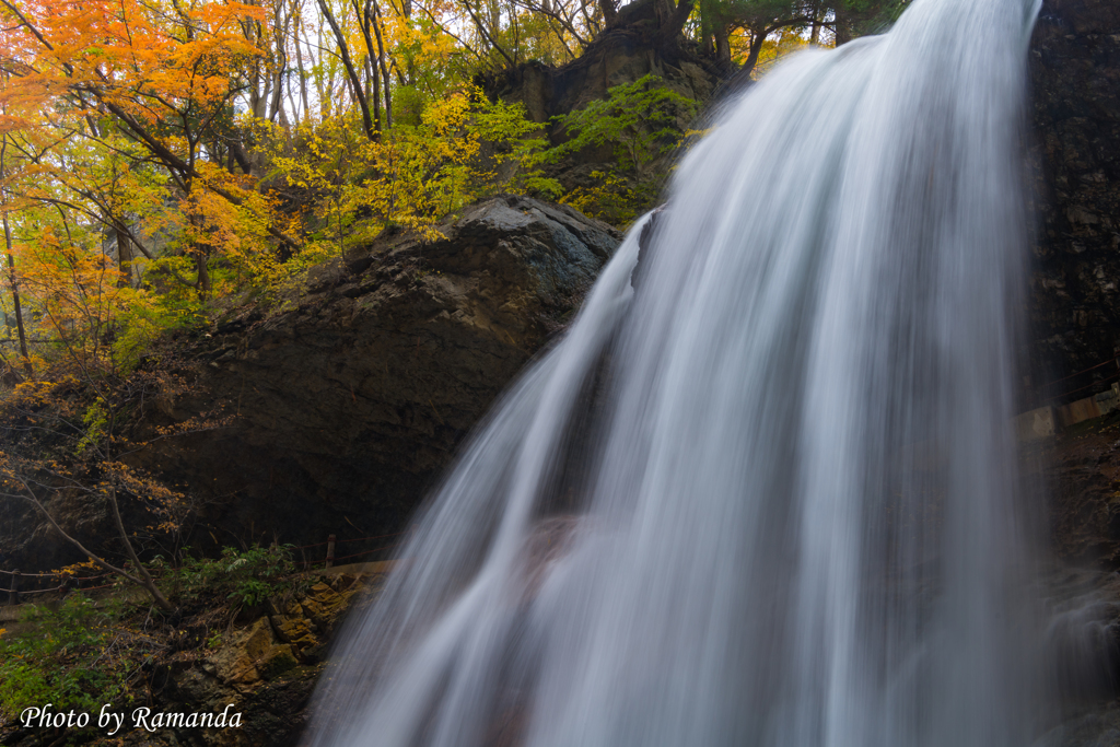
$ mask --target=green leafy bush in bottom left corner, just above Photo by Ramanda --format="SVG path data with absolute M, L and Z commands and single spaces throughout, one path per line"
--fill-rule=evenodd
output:
M 68 597 L 56 611 L 32 608 L 26 631 L 0 638 L 0 711 L 15 718 L 25 708 L 96 712 L 125 692 L 128 660 L 109 651 L 113 615 L 92 600 Z

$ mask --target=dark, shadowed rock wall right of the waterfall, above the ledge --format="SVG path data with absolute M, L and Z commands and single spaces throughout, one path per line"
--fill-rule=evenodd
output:
M 1030 72 L 1042 177 L 1030 358 L 1052 381 L 1120 349 L 1120 3 L 1046 0 Z M 1103 366 L 1043 394 L 1116 374 Z

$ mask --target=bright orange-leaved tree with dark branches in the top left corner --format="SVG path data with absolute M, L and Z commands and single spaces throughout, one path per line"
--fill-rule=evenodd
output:
M 172 198 L 184 204 L 211 194 L 243 212 L 251 168 L 234 100 L 258 69 L 261 49 L 245 29 L 262 21 L 261 8 L 232 1 L 0 0 L 0 128 L 24 160 L 57 164 L 52 149 L 88 139 L 158 168 Z M 73 184 L 58 171 L 54 180 Z M 128 223 L 122 215 L 99 220 L 119 234 Z M 199 224 L 197 234 L 207 221 L 223 218 L 195 212 L 190 220 Z M 262 220 L 276 240 L 296 243 Z M 205 295 L 214 248 L 202 243 L 185 251 L 195 259 L 192 284 Z

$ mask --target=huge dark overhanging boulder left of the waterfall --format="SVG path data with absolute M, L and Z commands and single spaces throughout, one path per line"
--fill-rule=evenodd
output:
M 195 547 L 337 534 L 342 558 L 371 548 L 347 539 L 399 531 L 619 240 L 522 197 L 487 199 L 442 232 L 379 241 L 314 271 L 288 310 L 218 325 L 200 394 L 161 407 L 174 421 L 215 404 L 235 419 L 141 465 L 208 504 Z

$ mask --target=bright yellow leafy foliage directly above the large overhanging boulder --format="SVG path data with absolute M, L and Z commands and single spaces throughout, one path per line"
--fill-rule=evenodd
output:
M 429 103 L 419 124 L 398 124 L 377 141 L 353 116 L 304 125 L 291 141 L 274 137 L 276 172 L 309 193 L 315 209 L 305 216 L 300 233 L 309 239 L 298 255 L 254 270 L 276 284 L 389 225 L 435 239 L 445 215 L 534 174 L 538 130 L 520 105 L 467 90 Z

